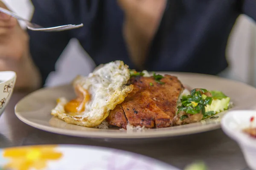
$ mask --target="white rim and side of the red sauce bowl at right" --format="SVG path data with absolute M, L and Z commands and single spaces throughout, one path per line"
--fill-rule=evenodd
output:
M 256 170 L 256 138 L 242 131 L 250 125 L 256 127 L 256 120 L 250 122 L 252 116 L 256 119 L 256 111 L 230 111 L 221 119 L 221 128 L 227 136 L 239 144 L 248 166 Z

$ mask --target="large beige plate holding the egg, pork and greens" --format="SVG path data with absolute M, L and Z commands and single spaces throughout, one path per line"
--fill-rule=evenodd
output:
M 241 82 L 222 79 L 215 76 L 189 73 L 160 72 L 158 74 L 171 74 L 177 76 L 183 85 L 190 88 L 206 88 L 207 90 L 219 90 L 231 98 L 234 107 L 231 110 L 254 110 L 256 108 L 256 89 Z M 56 99 L 60 96 L 72 99 L 75 97 L 70 85 L 55 88 L 43 88 L 35 91 L 17 103 L 15 113 L 17 117 L 28 125 L 53 133 L 111 139 L 135 139 L 135 138 L 159 138 L 200 133 L 220 128 L 220 121 L 225 112 L 219 113 L 218 119 L 207 119 L 198 123 L 149 129 L 142 132 L 128 132 L 115 129 L 95 129 L 70 125 L 53 117 L 50 114 L 56 105 Z

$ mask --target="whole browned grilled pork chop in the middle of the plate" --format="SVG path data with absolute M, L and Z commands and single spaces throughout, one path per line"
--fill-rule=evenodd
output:
M 177 100 L 184 87 L 175 76 L 165 75 L 156 82 L 154 77 L 131 77 L 133 91 L 117 105 L 106 119 L 110 125 L 160 128 L 173 125 Z

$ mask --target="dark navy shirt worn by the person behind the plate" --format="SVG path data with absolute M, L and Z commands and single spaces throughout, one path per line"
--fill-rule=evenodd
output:
M 28 31 L 30 51 L 43 84 L 71 38 L 96 65 L 123 60 L 135 68 L 122 37 L 124 13 L 117 0 L 32 0 L 32 22 L 44 27 L 80 24 L 70 31 Z M 218 74 L 227 68 L 227 40 L 239 14 L 256 19 L 255 0 L 169 0 L 148 51 L 148 71 Z

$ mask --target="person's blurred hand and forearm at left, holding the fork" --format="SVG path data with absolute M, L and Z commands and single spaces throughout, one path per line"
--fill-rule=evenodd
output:
M 8 9 L 2 1 L 0 7 Z M 29 57 L 29 36 L 15 18 L 2 12 L 0 12 L 0 71 L 15 71 L 17 88 L 38 88 L 38 71 Z M 32 83 L 29 82 L 31 81 L 29 73 L 35 79 Z M 29 83 L 32 87 L 28 87 Z

